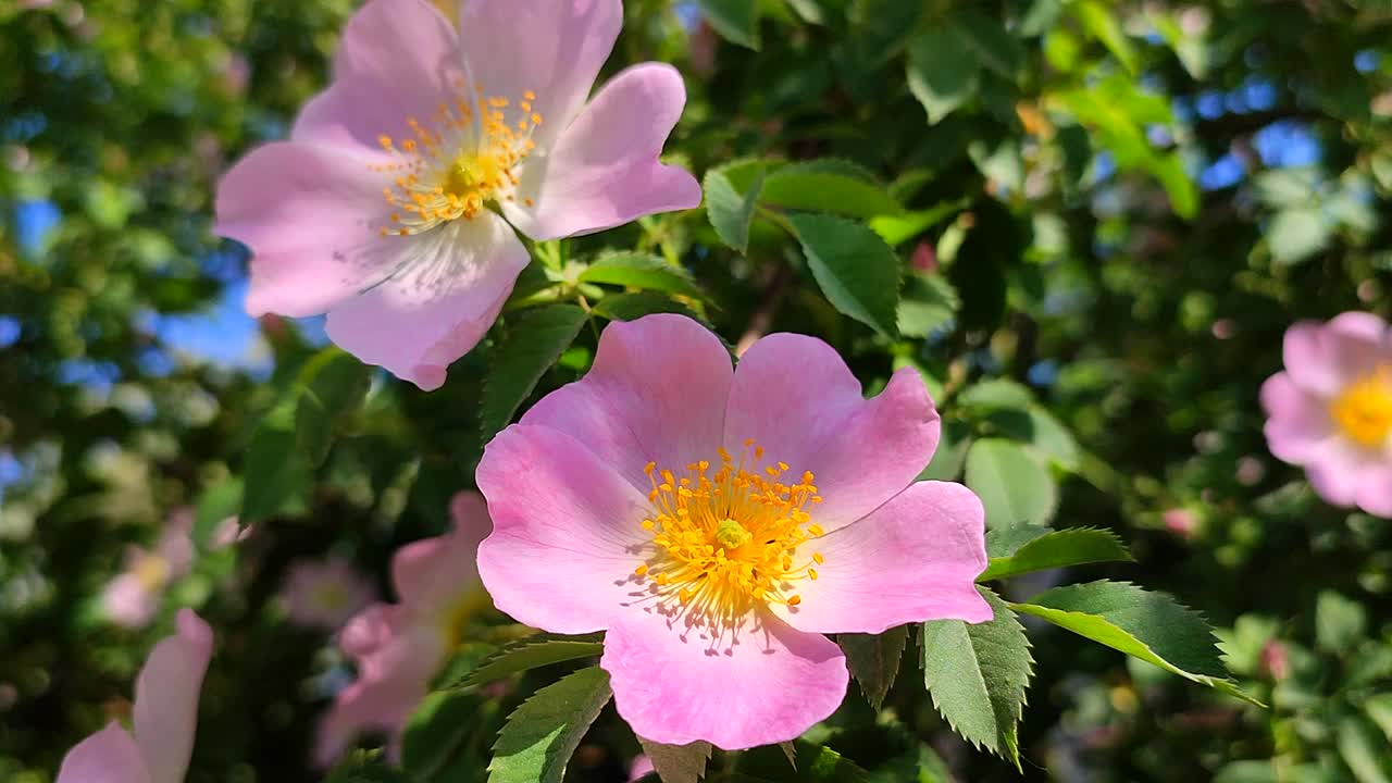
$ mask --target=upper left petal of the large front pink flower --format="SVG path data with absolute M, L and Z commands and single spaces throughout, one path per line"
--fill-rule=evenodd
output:
M 604 329 L 590 372 L 547 394 L 522 424 L 571 435 L 646 496 L 650 460 L 681 471 L 718 458 L 732 375 L 729 351 L 689 318 L 615 322 Z

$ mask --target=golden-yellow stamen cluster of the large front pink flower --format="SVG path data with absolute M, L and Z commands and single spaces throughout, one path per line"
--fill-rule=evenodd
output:
M 658 606 L 690 624 L 734 628 L 759 606 L 798 606 L 796 582 L 816 580 L 825 561 L 818 552 L 798 557 L 799 546 L 824 534 L 803 510 L 821 503 L 812 472 L 786 483 L 788 465 L 760 468 L 763 456 L 746 440 L 738 463 L 720 449 L 714 474 L 704 460 L 682 476 L 647 464 L 654 513 L 642 524 L 653 543 L 633 573 L 653 582 Z

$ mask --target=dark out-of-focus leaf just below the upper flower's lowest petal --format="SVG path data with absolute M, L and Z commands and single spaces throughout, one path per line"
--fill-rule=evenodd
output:
M 373 368 L 338 350 L 316 355 L 301 372 L 303 387 L 295 407 L 295 439 L 312 465 L 323 464 L 334 426 L 362 407 Z

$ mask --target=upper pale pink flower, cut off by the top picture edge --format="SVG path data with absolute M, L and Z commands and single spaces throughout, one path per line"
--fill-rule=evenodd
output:
M 291 141 L 223 178 L 217 231 L 251 247 L 252 315 L 329 313 L 329 336 L 422 389 L 487 332 L 533 240 L 700 203 L 658 163 L 686 103 L 644 63 L 586 104 L 619 0 L 370 0 Z

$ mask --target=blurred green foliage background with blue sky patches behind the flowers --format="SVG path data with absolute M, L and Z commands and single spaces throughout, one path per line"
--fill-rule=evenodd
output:
M 473 355 L 433 394 L 374 378 L 295 503 L 227 543 L 251 433 L 326 340 L 313 319 L 242 312 L 245 252 L 210 234 L 212 194 L 323 88 L 354 7 L 0 0 L 0 780 L 50 780 L 127 711 L 180 606 L 220 639 L 189 780 L 315 779 L 313 722 L 349 669 L 327 633 L 287 621 L 288 564 L 333 553 L 386 591 L 391 550 L 444 529 L 472 481 Z M 871 385 L 919 366 L 948 421 L 938 475 L 960 474 L 973 437 L 1020 436 L 999 398 L 965 390 L 1027 389 L 1045 424 L 1020 437 L 1052 439 L 1055 458 L 1026 476 L 1057 499 L 1048 515 L 1115 529 L 1136 555 L 1083 575 L 1201 609 L 1271 705 L 1031 628 L 1025 777 L 1392 779 L 1392 524 L 1321 503 L 1267 453 L 1257 403 L 1289 323 L 1392 315 L 1392 6 L 625 7 L 606 72 L 681 68 L 674 160 L 700 176 L 743 156 L 842 157 L 920 216 L 889 230 L 928 288 L 922 339 L 888 344 L 838 318 L 796 259 L 760 249 L 777 245 L 757 224 L 748 258 L 700 210 L 576 249 L 679 254 L 732 343 L 824 334 Z M 754 11 L 757 42 L 731 21 Z M 181 555 L 160 549 L 170 525 L 188 525 Z M 155 555 L 139 566 L 131 546 Z M 121 624 L 103 595 L 132 568 L 153 614 Z M 1016 779 L 937 719 L 915 653 L 881 716 L 892 731 L 827 741 L 883 780 Z M 867 711 L 852 694 L 841 720 Z M 622 779 L 619 734 L 608 715 L 572 776 Z

